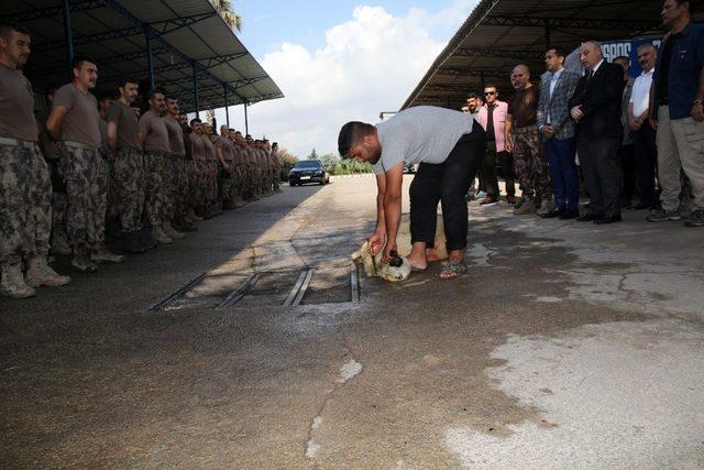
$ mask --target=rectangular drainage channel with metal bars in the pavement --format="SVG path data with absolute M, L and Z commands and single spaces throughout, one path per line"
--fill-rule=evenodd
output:
M 360 277 L 352 267 L 306 267 L 262 273 L 201 273 L 148 308 L 150 311 L 355 303 Z

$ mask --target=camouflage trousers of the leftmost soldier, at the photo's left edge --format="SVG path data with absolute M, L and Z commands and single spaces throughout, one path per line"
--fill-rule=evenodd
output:
M 0 144 L 0 264 L 48 253 L 52 179 L 36 142 Z

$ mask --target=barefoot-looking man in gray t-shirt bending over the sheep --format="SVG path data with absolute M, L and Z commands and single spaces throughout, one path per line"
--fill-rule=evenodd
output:
M 375 253 L 386 243 L 384 262 L 391 262 L 396 250 L 404 164 L 420 164 L 409 189 L 413 251 L 408 262 L 415 270 L 428 266 L 426 250 L 433 248 L 438 203 L 442 203 L 449 262 L 440 277 L 454 278 L 466 272 L 464 195 L 486 153 L 486 134 L 472 114 L 420 106 L 376 125 L 348 122 L 340 130 L 338 150 L 343 159 L 374 167 L 377 218 L 369 241 Z

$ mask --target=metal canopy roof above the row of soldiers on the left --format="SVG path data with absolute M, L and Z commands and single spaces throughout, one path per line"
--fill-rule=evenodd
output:
M 148 76 L 179 98 L 182 109 L 254 103 L 284 95 L 208 0 L 69 0 L 76 55 L 98 62 L 98 90 L 124 77 Z M 25 75 L 36 89 L 68 80 L 64 1 L 4 0 L 2 21 L 32 32 Z M 227 91 L 226 91 L 227 88 Z

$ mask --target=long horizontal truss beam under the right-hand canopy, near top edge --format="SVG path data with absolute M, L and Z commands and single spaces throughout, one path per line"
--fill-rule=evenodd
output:
M 490 14 L 482 21 L 484 26 L 525 26 L 546 28 L 546 24 L 554 28 L 568 28 L 576 30 L 628 30 L 628 31 L 658 31 L 658 21 L 614 20 L 600 18 L 535 18 L 528 15 L 497 15 Z

